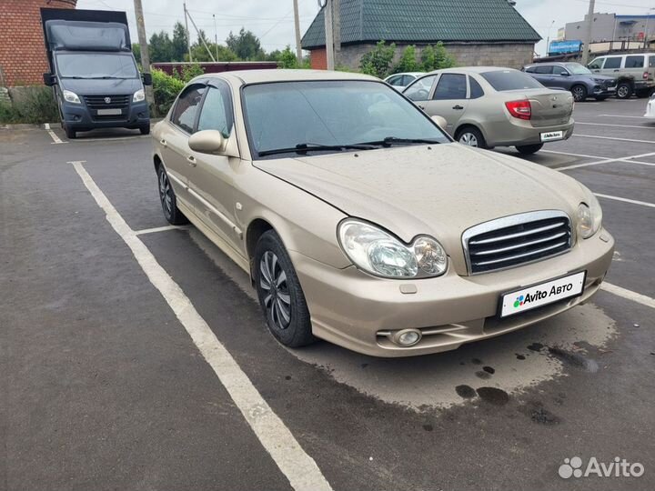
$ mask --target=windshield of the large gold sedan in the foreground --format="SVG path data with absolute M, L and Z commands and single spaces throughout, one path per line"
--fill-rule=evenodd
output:
M 247 133 L 254 153 L 294 154 L 294 148 L 358 144 L 448 143 L 437 125 L 388 85 L 368 81 L 305 81 L 247 85 Z M 276 150 L 290 149 L 287 152 Z

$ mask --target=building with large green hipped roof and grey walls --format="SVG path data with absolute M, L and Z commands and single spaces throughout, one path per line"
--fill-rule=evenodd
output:
M 408 45 L 442 41 L 458 65 L 520 67 L 532 61 L 541 37 L 508 0 L 338 0 L 336 65 L 359 68 L 380 40 Z M 325 69 L 325 7 L 302 38 L 312 68 Z M 336 16 L 336 15 L 335 15 Z

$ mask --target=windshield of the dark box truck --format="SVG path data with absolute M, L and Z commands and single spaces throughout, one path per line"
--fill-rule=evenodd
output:
M 56 65 L 63 78 L 136 78 L 138 75 L 134 58 L 116 53 L 60 53 L 56 55 Z

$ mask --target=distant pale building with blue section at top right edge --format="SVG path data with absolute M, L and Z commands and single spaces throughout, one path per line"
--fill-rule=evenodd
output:
M 584 39 L 585 26 L 589 15 L 579 22 L 569 22 L 564 28 L 564 39 L 574 41 Z M 593 15 L 591 24 L 591 43 L 607 41 L 655 40 L 655 15 Z

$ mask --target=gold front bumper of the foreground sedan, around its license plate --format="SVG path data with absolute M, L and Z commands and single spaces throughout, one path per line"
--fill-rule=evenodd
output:
M 562 256 L 479 276 L 446 275 L 423 280 L 386 280 L 354 266 L 336 269 L 289 251 L 307 298 L 317 337 L 370 356 L 416 356 L 529 326 L 589 299 L 600 288 L 612 259 L 614 239 L 604 229 L 579 240 Z M 586 270 L 581 296 L 500 319 L 499 298 L 523 286 Z M 415 293 L 402 293 L 401 289 Z M 423 333 L 415 346 L 391 342 L 398 330 Z

